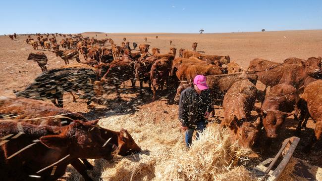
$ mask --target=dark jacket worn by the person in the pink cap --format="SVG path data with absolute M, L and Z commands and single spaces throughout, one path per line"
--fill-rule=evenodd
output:
M 206 111 L 213 111 L 210 90 L 203 90 L 200 95 L 194 88 L 187 88 L 181 92 L 179 101 L 179 121 L 182 126 L 195 128 L 199 122 L 207 123 L 204 117 Z

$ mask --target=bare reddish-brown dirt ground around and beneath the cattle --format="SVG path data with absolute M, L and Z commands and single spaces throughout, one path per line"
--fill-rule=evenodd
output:
M 97 37 L 96 37 L 97 35 Z M 156 36 L 159 36 L 156 39 Z M 311 56 L 322 56 L 322 30 L 310 31 L 279 31 L 279 32 L 249 32 L 249 33 L 220 33 L 220 34 L 107 34 L 99 32 L 86 32 L 83 36 L 94 37 L 97 39 L 112 38 L 114 43 L 120 45 L 125 37 L 130 42 L 136 42 L 138 45 L 144 43 L 144 37 L 147 37 L 147 44 L 150 47 L 158 47 L 161 53 L 169 51 L 171 46 L 177 48 L 177 56 L 179 48 L 192 49 L 192 43 L 198 42 L 197 51 L 207 54 L 229 55 L 231 61 L 237 62 L 242 68 L 247 69 L 249 61 L 254 58 L 265 58 L 268 60 L 282 62 L 288 57 L 298 57 L 307 59 Z M 17 40 L 11 41 L 8 36 L 0 36 L 0 95 L 14 97 L 13 90 L 23 90 L 33 80 L 41 74 L 41 69 L 34 61 L 27 60 L 30 52 L 36 52 L 31 45 L 25 42 L 26 36 L 17 36 Z M 36 36 L 32 36 L 36 40 Z M 57 42 L 62 37 L 57 37 Z M 172 40 L 172 45 L 169 41 Z M 39 46 L 40 47 L 40 46 Z M 55 57 L 53 52 L 41 50 L 48 57 L 48 69 L 59 68 L 64 65 L 64 61 L 60 57 Z M 84 61 L 80 55 L 81 61 Z M 75 60 L 71 61 L 72 63 Z M 138 83 L 137 83 L 138 85 Z M 144 85 L 144 90 L 147 90 L 147 85 Z M 263 85 L 257 85 L 259 89 L 263 89 Z M 148 91 L 138 93 L 138 88 L 131 89 L 130 83 L 121 86 L 121 100 L 114 100 L 115 94 L 111 93 L 106 96 L 106 105 L 98 105 L 96 110 L 86 108 L 84 100 L 77 99 L 77 102 L 72 102 L 71 97 L 64 95 L 64 108 L 70 111 L 83 112 L 90 119 L 108 118 L 115 116 L 135 115 L 133 118 L 140 117 L 139 120 L 145 119 L 142 115 L 148 112 L 149 119 L 156 125 L 164 126 L 166 123 L 177 123 L 177 104 L 172 99 L 174 94 L 171 91 L 163 90 L 158 92 L 158 100 L 152 102 L 152 95 Z M 216 110 L 216 115 L 220 115 L 221 110 Z M 141 115 L 141 116 L 140 116 Z M 118 118 L 118 117 L 116 117 Z M 165 124 L 164 124 L 165 123 Z M 126 123 L 120 125 L 127 128 Z M 179 124 L 178 124 L 179 126 Z M 294 127 L 296 123 L 292 119 L 288 119 L 279 138 L 273 140 L 269 149 L 263 144 L 257 150 L 261 159 L 264 160 L 273 156 L 279 149 L 283 139 L 294 136 Z M 309 129 L 303 131 L 301 142 L 295 152 L 295 157 L 309 162 L 312 165 L 322 167 L 322 147 L 321 141 L 316 144 L 315 148 L 309 154 L 303 154 L 301 148 L 305 142 L 309 140 L 309 136 L 313 134 L 315 128 L 312 120 L 308 122 Z M 167 128 L 165 128 L 167 129 Z M 179 132 L 178 128 L 172 128 L 173 132 Z M 135 138 L 136 140 L 140 138 Z M 181 136 L 180 139 L 183 139 Z M 267 142 L 264 136 L 260 142 Z M 180 140 L 181 141 L 181 140 Z M 140 143 L 140 142 L 139 142 Z M 299 175 L 305 176 L 307 179 L 316 179 L 314 175 L 302 173 Z M 102 176 L 100 173 L 95 175 L 97 179 Z M 66 178 L 70 180 L 70 178 Z M 115 178 L 114 178 L 115 179 Z M 151 178 L 150 178 L 151 179 Z M 134 179 L 135 180 L 135 179 Z M 148 179 L 149 180 L 149 179 Z

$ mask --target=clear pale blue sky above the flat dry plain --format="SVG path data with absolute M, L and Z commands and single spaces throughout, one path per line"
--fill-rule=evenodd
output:
M 5 0 L 0 34 L 322 29 L 322 0 Z

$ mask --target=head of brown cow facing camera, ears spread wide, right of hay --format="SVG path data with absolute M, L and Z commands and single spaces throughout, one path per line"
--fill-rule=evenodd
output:
M 256 111 L 263 121 L 267 136 L 271 138 L 277 137 L 277 130 L 282 126 L 286 117 L 291 115 L 291 113 L 286 113 L 279 110 L 264 111 L 260 108 L 256 108 Z

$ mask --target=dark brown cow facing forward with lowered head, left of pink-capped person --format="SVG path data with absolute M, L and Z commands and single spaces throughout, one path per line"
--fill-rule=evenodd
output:
M 168 59 L 157 60 L 151 67 L 147 76 L 150 76 L 150 80 L 153 87 L 153 101 L 156 99 L 156 92 L 163 90 L 164 82 L 168 81 L 169 73 L 171 71 L 171 62 Z

